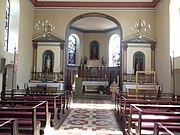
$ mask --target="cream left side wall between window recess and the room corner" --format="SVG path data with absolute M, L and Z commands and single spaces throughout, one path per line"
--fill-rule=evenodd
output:
M 31 79 L 33 70 L 33 22 L 34 10 L 26 0 L 20 1 L 20 21 L 19 21 L 19 44 L 18 44 L 18 70 L 17 84 L 20 88 L 24 87 L 24 83 Z

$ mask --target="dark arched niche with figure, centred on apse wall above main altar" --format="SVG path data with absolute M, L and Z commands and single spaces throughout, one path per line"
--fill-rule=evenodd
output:
M 99 59 L 99 42 L 97 41 L 90 43 L 90 59 Z

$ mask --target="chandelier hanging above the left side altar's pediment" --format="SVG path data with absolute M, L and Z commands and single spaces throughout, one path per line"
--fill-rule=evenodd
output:
M 46 8 L 46 0 L 45 0 L 45 8 Z M 46 19 L 44 18 L 42 21 L 39 20 L 34 28 L 37 30 L 37 31 L 41 31 L 43 32 L 44 36 L 46 36 L 46 34 L 50 34 L 52 33 L 53 31 L 55 31 L 55 27 Z

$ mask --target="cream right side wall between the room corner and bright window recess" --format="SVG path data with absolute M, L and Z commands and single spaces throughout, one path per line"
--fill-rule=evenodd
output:
M 157 81 L 163 85 L 163 92 L 172 92 L 170 70 L 170 42 L 169 42 L 169 2 L 164 0 L 156 11 L 155 68 Z

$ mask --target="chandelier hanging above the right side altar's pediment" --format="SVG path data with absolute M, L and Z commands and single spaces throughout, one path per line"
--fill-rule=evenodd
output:
M 141 0 L 140 0 L 140 7 L 141 7 Z M 131 31 L 134 32 L 138 38 L 143 38 L 151 31 L 150 24 L 147 24 L 145 20 L 139 19 L 138 22 L 136 21 L 134 26 L 131 27 Z

